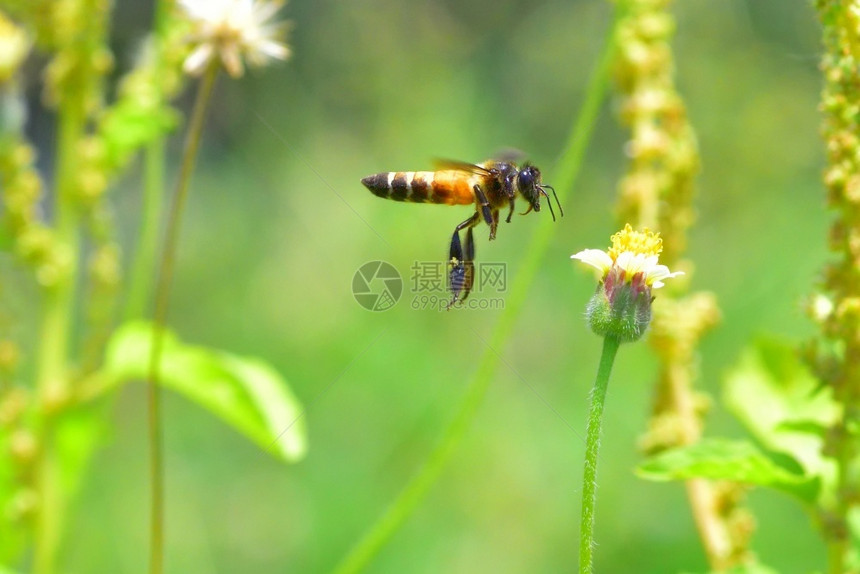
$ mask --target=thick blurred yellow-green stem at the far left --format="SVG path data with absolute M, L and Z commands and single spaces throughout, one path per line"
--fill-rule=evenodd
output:
M 56 237 L 65 250 L 62 277 L 45 299 L 42 320 L 37 384 L 40 400 L 51 403 L 62 400 L 69 391 L 66 373 L 69 337 L 75 313 L 75 277 L 81 249 L 80 215 L 75 200 L 77 146 L 84 132 L 86 112 L 80 98 L 70 97 L 59 111 L 57 148 Z M 50 415 L 47 415 L 50 416 Z M 42 422 L 42 448 L 39 463 L 39 513 L 36 519 L 36 548 L 33 571 L 50 573 L 60 542 L 63 522 L 63 495 L 60 492 L 60 469 L 53 447 L 50 420 Z

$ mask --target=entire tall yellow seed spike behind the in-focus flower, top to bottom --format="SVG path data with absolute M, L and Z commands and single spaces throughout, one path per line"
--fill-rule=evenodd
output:
M 660 233 L 635 234 L 628 226 L 613 237 L 610 256 L 617 257 L 622 250 L 659 253 L 661 263 L 684 269 L 689 278 L 692 264 L 681 258 L 687 230 L 695 220 L 692 200 L 699 153 L 684 102 L 675 89 L 670 45 L 675 21 L 668 10 L 670 3 L 620 0 L 624 20 L 616 84 L 621 121 L 631 133 L 625 148 L 630 165 L 619 184 L 617 211 L 622 221 Z M 709 399 L 695 388 L 698 345 L 719 322 L 720 311 L 710 293 L 682 296 L 688 284 L 673 283 L 653 306 L 649 342 L 660 367 L 648 432 L 640 441 L 648 453 L 691 444 L 702 435 Z M 749 556 L 750 529 L 737 528 L 739 517 L 747 516 L 739 497 L 726 497 L 701 480 L 688 483 L 687 494 L 711 569 L 723 571 L 743 564 Z

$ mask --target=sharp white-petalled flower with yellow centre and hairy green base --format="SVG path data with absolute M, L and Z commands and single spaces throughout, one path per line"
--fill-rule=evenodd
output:
M 634 231 L 628 223 L 612 236 L 607 251 L 585 249 L 571 255 L 599 271 L 600 284 L 586 311 L 591 329 L 601 336 L 635 341 L 651 322 L 652 289 L 663 280 L 683 275 L 659 261 L 663 240 L 648 229 Z

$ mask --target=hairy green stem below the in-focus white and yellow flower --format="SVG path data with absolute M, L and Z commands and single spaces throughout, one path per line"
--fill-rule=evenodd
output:
M 600 451 L 600 428 L 603 423 L 603 406 L 609 373 L 615 362 L 619 342 L 615 337 L 603 339 L 603 352 L 594 388 L 591 390 L 591 408 L 585 433 L 585 472 L 582 480 L 582 517 L 579 531 L 579 574 L 591 574 L 594 561 L 594 509 L 597 505 L 597 454 Z

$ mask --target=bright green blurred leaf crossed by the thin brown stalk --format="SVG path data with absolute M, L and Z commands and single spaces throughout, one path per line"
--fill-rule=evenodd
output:
M 133 322 L 108 344 L 106 380 L 121 384 L 149 374 L 152 327 Z M 160 382 L 212 413 L 273 455 L 296 461 L 307 449 L 302 408 L 286 381 L 262 360 L 186 345 L 165 330 Z

